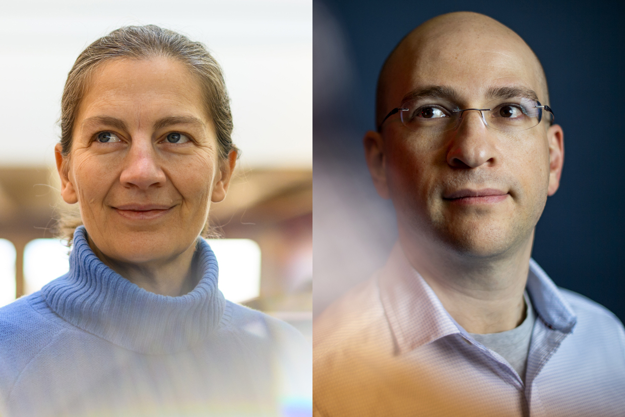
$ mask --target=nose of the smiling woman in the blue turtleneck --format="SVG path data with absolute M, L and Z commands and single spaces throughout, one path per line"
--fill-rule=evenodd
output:
M 146 190 L 162 186 L 166 181 L 161 158 L 151 138 L 133 138 L 124 157 L 124 169 L 119 181 L 126 187 Z

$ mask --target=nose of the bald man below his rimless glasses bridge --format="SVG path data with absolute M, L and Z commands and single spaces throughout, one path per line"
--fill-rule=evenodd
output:
M 447 151 L 447 164 L 454 168 L 477 168 L 497 162 L 496 148 L 492 142 L 492 129 L 479 110 L 465 110 L 456 129 L 451 131 L 452 141 Z

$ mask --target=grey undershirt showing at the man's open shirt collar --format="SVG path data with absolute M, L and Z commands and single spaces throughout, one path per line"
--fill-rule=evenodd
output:
M 469 334 L 479 343 L 499 353 L 511 364 L 512 368 L 521 376 L 522 381 L 525 382 L 527 353 L 529 352 L 529 342 L 531 341 L 536 314 L 527 296 L 527 292 L 523 295 L 527 306 L 527 313 L 523 323 L 519 324 L 519 326 L 512 330 L 502 331 L 501 333 Z

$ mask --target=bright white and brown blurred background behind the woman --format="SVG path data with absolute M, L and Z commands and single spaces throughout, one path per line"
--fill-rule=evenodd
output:
M 211 241 L 226 298 L 311 338 L 310 0 L 4 2 L 0 14 L 0 305 L 68 270 L 54 239 L 54 144 L 64 81 L 95 39 L 157 24 L 206 44 L 224 69 L 241 149 Z

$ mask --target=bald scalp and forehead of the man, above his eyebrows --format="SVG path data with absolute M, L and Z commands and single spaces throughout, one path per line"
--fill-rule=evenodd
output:
M 536 54 L 511 29 L 483 14 L 443 14 L 421 24 L 391 52 L 377 81 L 376 126 L 415 86 L 455 84 L 475 95 L 484 85 L 478 73 L 501 68 L 493 84 L 531 84 L 549 103 L 547 81 Z M 476 104 L 477 105 L 477 104 Z

